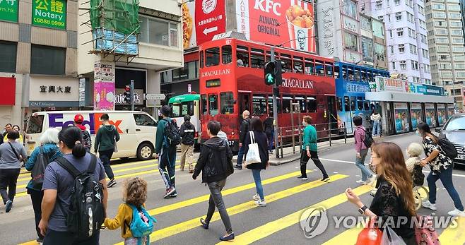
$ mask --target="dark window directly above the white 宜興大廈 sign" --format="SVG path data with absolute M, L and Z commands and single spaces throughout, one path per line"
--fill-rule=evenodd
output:
M 31 45 L 30 73 L 64 76 L 65 64 L 66 49 Z

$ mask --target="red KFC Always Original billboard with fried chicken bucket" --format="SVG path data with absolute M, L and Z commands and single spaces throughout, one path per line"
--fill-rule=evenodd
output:
M 300 0 L 237 0 L 237 31 L 247 40 L 316 53 L 313 4 Z

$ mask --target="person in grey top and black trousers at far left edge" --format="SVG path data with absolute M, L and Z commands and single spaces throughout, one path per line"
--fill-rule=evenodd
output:
M 13 206 L 21 162 L 28 158 L 24 146 L 16 142 L 19 132 L 11 129 L 7 137 L 8 141 L 0 145 L 0 195 L 6 205 L 6 213 Z

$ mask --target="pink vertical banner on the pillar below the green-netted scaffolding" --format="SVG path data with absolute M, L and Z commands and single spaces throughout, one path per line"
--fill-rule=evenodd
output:
M 94 64 L 94 109 L 114 109 L 114 63 L 97 61 Z

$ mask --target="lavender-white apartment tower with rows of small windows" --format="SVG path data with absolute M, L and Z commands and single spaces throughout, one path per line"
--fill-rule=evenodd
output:
M 431 84 L 423 0 L 364 0 L 360 12 L 384 21 L 389 72 Z

